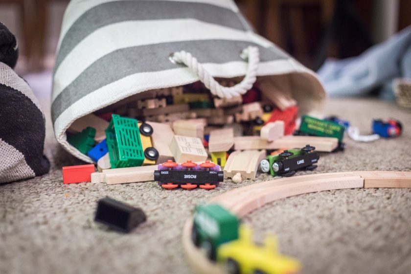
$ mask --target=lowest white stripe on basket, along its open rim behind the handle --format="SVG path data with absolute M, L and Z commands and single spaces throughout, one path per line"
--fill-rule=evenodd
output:
M 227 78 L 244 75 L 247 70 L 247 64 L 244 62 L 204 64 L 204 67 L 212 72 L 213 77 Z M 69 106 L 55 120 L 54 132 L 58 141 L 68 152 L 76 155 L 76 157 L 81 160 L 91 162 L 89 157 L 69 145 L 66 140 L 65 132 L 73 121 L 141 91 L 155 88 L 177 87 L 196 81 L 197 78 L 194 74 L 186 73 L 185 70 L 187 69 L 189 68 L 140 72 L 124 77 L 87 94 Z M 277 75 L 304 70 L 307 69 L 304 69 L 304 67 L 292 59 L 275 60 L 260 63 L 257 74 L 260 76 Z

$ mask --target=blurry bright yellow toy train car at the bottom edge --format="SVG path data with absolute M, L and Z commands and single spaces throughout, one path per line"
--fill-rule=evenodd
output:
M 217 261 L 227 266 L 230 274 L 296 274 L 301 269 L 298 260 L 282 255 L 274 235 L 267 235 L 265 245 L 252 241 L 250 227 L 242 225 L 239 238 L 219 247 Z

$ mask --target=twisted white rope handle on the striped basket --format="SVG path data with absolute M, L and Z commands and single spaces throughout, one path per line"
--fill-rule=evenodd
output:
M 257 79 L 257 68 L 258 63 L 260 62 L 260 53 L 258 47 L 249 46 L 241 52 L 241 57 L 243 59 L 248 59 L 248 68 L 247 73 L 244 79 L 235 86 L 232 87 L 223 87 L 221 86 L 204 66 L 197 61 L 197 59 L 191 55 L 191 53 L 184 50 L 174 52 L 170 59 L 171 61 L 184 64 L 191 70 L 193 70 L 201 82 L 204 83 L 207 89 L 211 91 L 212 94 L 219 96 L 220 98 L 226 97 L 231 98 L 233 96 L 240 96 L 241 94 L 246 93 L 251 89 L 255 80 Z

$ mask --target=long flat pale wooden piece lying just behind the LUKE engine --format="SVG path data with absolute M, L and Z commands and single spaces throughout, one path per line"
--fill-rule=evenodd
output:
M 338 139 L 315 136 L 284 136 L 273 142 L 259 136 L 234 137 L 235 150 L 279 149 L 283 147 L 304 147 L 306 144 L 316 147 L 316 151 L 331 152 L 338 147 Z

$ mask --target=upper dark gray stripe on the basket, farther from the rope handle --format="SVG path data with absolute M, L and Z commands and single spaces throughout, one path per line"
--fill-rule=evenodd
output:
M 193 18 L 208 23 L 246 30 L 238 15 L 230 9 L 205 3 L 180 1 L 120 0 L 100 4 L 86 11 L 68 29 L 59 49 L 54 70 L 68 53 L 98 28 L 131 20 Z M 200 31 L 200 30 L 199 30 Z M 158 41 L 161 43 L 162 41 Z

